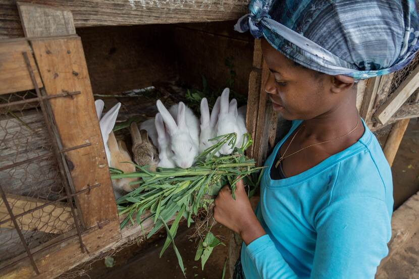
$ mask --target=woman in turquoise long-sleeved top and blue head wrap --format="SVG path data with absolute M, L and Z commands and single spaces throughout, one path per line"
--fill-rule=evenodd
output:
M 414 1 L 251 1 L 236 30 L 261 38 L 272 105 L 292 120 L 268 157 L 256 213 L 242 182 L 214 218 L 240 234 L 236 278 L 368 278 L 388 253 L 391 170 L 356 109 L 356 82 L 407 65 Z

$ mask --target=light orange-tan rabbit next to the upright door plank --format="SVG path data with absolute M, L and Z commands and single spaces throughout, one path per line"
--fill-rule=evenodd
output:
M 126 174 L 134 173 L 135 165 L 128 163 L 132 162 L 132 160 L 130 154 L 128 153 L 127 146 L 123 141 L 117 142 L 114 132 L 109 134 L 108 146 L 111 153 L 111 166 L 115 169 L 123 171 Z M 112 184 L 114 185 L 114 188 L 119 191 L 124 190 L 126 192 L 131 192 L 138 187 L 138 185 L 129 185 L 129 183 L 138 180 L 138 178 L 114 179 L 112 180 Z

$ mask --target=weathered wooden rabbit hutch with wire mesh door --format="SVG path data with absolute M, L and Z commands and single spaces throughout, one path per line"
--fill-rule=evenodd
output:
M 168 100 L 180 92 L 177 101 L 184 91 L 171 81 L 201 86 L 205 76 L 223 88 L 234 68 L 229 85 L 247 97 L 254 140 L 248 155 L 264 161 L 283 129 L 260 86 L 269 75 L 260 42 L 233 31 L 246 5 L 0 2 L 0 276 L 53 278 L 142 235 L 137 227 L 120 230 L 93 94 L 152 87 Z M 418 116 L 416 66 L 358 85 L 358 107 L 372 129 L 397 123 L 386 143 L 391 152 L 404 119 Z M 152 116 L 144 105 L 150 98 L 118 99 L 130 107 L 122 115 Z

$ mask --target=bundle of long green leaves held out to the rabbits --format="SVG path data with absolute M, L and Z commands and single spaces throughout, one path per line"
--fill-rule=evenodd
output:
M 208 214 L 211 214 L 214 197 L 224 185 L 230 185 L 235 198 L 235 183 L 238 180 L 244 180 L 249 196 L 260 182 L 258 174 L 261 168 L 257 168 L 255 161 L 244 154 L 246 148 L 252 144 L 250 135 L 245 135 L 241 147 L 235 148 L 231 155 L 217 156 L 216 153 L 225 143 L 235 146 L 235 133 L 212 140 L 217 143 L 199 154 L 196 163 L 189 169 L 158 168 L 155 172 L 150 172 L 147 166 L 136 165 L 138 171 L 135 173 L 124 174 L 116 169 L 111 170 L 112 179 L 140 178 L 135 182 L 139 184 L 138 188 L 117 200 L 119 213 L 126 215 L 121 228 L 130 223 L 141 226 L 146 219 L 151 218 L 153 228 L 147 235 L 149 238 L 165 227 L 168 237 L 160 255 L 172 244 L 183 272 L 182 257 L 174 242 L 182 217 L 187 220 L 188 227 L 199 221 L 198 218 L 202 218 L 202 214 L 198 214 L 202 211 L 206 217 L 211 217 Z M 167 224 L 173 218 L 169 228 Z M 211 226 L 206 228 L 205 233 L 198 234 L 201 239 L 195 256 L 195 260 L 201 259 L 202 269 L 213 249 L 223 244 L 211 233 Z

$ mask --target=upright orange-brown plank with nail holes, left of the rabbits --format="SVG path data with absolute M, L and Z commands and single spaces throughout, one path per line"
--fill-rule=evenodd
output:
M 33 39 L 31 41 L 47 95 L 80 91 L 70 98 L 53 98 L 53 111 L 63 148 L 85 143 L 90 146 L 66 152 L 74 190 L 100 183 L 76 200 L 84 225 L 117 219 L 117 208 L 94 107 L 89 74 L 80 37 Z

